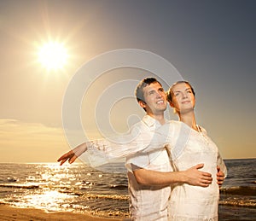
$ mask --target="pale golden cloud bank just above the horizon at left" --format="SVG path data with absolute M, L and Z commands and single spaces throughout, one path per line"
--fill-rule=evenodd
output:
M 51 162 L 69 150 L 61 128 L 0 119 L 0 162 Z

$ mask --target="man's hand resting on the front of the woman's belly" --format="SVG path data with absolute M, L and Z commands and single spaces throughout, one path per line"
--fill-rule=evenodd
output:
M 193 186 L 208 187 L 212 183 L 212 174 L 199 171 L 203 166 L 203 164 L 198 164 L 184 171 L 184 183 Z

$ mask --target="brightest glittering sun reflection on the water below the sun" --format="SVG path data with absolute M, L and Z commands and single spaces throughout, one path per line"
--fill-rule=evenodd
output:
M 71 193 L 73 187 L 76 186 L 73 183 L 77 183 L 81 176 L 79 172 L 76 172 L 76 169 L 79 171 L 79 166 L 74 165 L 72 170 L 71 166 L 59 166 L 58 164 L 35 166 L 36 171 L 28 172 L 24 180 L 17 183 L 22 189 L 15 189 L 7 201 L 13 206 L 34 207 L 47 212 L 63 211 L 63 209 L 73 211 L 74 206 L 78 206 L 73 205 L 78 195 Z M 26 189 L 26 186 L 32 183 L 36 183 L 38 188 Z

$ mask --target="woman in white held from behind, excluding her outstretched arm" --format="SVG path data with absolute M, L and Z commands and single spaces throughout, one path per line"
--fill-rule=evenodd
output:
M 179 118 L 178 122 L 172 121 L 170 124 L 172 136 L 167 138 L 175 170 L 183 171 L 201 162 L 205 165 L 204 171 L 215 174 L 216 166 L 220 166 L 226 175 L 226 167 L 218 154 L 217 146 L 207 137 L 207 131 L 196 124 L 195 92 L 189 82 L 173 84 L 167 93 L 167 100 Z M 160 131 L 166 131 L 165 127 L 166 125 Z M 168 130 L 171 131 L 170 128 Z M 180 139 L 181 135 L 183 139 Z M 174 137 L 180 138 L 173 140 Z M 212 184 L 207 188 L 186 183 L 174 185 L 169 201 L 170 220 L 218 220 L 219 189 L 216 177 L 212 178 Z

